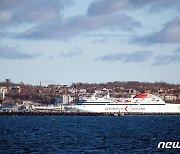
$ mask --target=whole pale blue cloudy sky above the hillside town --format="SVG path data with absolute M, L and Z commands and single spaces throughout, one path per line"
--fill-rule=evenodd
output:
M 180 83 L 178 0 L 1 0 L 0 82 Z

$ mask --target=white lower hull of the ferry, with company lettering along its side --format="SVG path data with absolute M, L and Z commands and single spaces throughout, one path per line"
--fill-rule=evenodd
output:
M 67 108 L 66 108 L 67 109 Z M 74 105 L 70 112 L 139 112 L 139 113 L 180 113 L 180 104 L 165 105 Z

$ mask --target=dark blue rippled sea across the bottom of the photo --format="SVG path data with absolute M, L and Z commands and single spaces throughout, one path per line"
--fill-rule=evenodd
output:
M 180 116 L 0 116 L 0 153 L 180 153 Z

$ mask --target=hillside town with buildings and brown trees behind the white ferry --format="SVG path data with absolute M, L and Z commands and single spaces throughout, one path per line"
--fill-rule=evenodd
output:
M 126 98 L 138 93 L 154 94 L 165 102 L 180 103 L 180 85 L 165 82 L 72 83 L 69 85 L 28 85 L 0 82 L 0 112 L 64 112 L 64 105 L 77 104 L 79 98 L 95 90 L 108 90 L 111 97 Z

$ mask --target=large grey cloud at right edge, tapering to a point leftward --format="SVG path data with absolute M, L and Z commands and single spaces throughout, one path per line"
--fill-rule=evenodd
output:
M 138 44 L 180 43 L 180 18 L 176 17 L 166 23 L 161 31 L 135 38 L 132 42 Z

